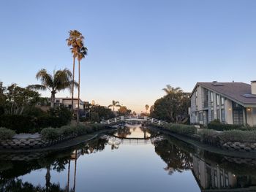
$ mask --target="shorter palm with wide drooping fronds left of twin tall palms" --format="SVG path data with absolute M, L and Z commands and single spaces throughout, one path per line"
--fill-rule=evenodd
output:
M 29 85 L 28 88 L 37 90 L 49 90 L 50 95 L 50 107 L 54 107 L 55 94 L 58 91 L 62 91 L 66 88 L 71 89 L 71 85 L 77 86 L 77 82 L 72 81 L 72 73 L 69 69 L 54 71 L 50 74 L 46 69 L 41 69 L 36 74 L 37 80 L 41 81 L 41 85 Z

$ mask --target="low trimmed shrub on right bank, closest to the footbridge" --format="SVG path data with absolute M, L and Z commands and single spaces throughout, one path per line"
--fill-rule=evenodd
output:
M 164 128 L 167 128 L 168 130 L 172 131 L 176 134 L 183 134 L 190 136 L 192 134 L 196 134 L 197 128 L 195 126 L 187 126 L 182 124 L 165 124 Z

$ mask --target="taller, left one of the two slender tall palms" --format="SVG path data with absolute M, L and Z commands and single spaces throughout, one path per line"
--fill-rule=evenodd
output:
M 78 57 L 78 50 L 83 46 L 83 35 L 78 30 L 70 30 L 69 38 L 66 39 L 67 46 L 71 47 L 73 56 L 73 82 L 75 82 L 75 58 Z M 72 112 L 74 110 L 74 83 L 72 83 L 72 98 L 71 98 Z

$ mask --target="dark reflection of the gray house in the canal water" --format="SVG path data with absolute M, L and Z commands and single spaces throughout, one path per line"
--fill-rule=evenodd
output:
M 219 191 L 219 189 L 233 191 L 234 188 L 239 188 L 239 191 L 248 191 L 247 187 L 256 185 L 255 177 L 233 174 L 220 168 L 217 164 L 207 164 L 206 161 L 195 155 L 192 155 L 192 159 L 192 172 L 202 191 Z

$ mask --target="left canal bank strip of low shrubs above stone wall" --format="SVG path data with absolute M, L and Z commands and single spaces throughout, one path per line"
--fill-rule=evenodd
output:
M 62 126 L 60 128 L 43 128 L 40 134 L 15 134 L 8 128 L 0 128 L 0 149 L 33 150 L 60 144 L 80 136 L 96 134 L 98 131 L 109 130 L 109 126 L 99 123 Z

